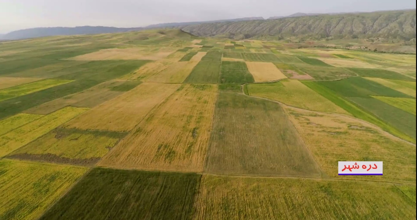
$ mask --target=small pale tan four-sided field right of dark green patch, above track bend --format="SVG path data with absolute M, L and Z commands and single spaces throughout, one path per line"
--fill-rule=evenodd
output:
M 272 62 L 246 62 L 255 82 L 266 82 L 287 78 Z

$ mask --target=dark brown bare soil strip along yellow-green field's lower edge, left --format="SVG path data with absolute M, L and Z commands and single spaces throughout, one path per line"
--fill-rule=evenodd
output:
M 41 162 L 49 162 L 49 163 L 64 163 L 64 164 L 73 164 L 73 165 L 83 165 L 83 166 L 91 166 L 95 165 L 101 158 L 88 158 L 88 159 L 72 159 L 72 158 L 65 158 L 59 157 L 55 154 L 15 154 L 8 156 L 7 158 L 10 159 L 18 159 L 18 160 L 35 160 Z

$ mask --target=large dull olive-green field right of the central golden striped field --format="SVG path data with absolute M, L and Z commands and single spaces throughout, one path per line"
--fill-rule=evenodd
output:
M 237 86 L 226 86 L 219 93 L 205 172 L 319 175 L 314 160 L 281 106 L 233 93 L 236 89 Z

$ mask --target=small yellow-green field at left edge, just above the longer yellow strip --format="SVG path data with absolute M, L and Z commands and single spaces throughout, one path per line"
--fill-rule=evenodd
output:
M 32 122 L 42 116 L 43 115 L 19 113 L 17 115 L 13 115 L 3 120 L 0 120 L 0 135 L 8 133 L 9 131 L 15 128 Z

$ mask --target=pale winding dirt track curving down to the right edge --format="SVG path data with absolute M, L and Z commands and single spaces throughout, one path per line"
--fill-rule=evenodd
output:
M 283 79 L 280 79 L 280 80 L 283 80 Z M 270 81 L 270 83 L 272 83 L 272 82 L 278 82 L 280 80 Z M 242 89 L 241 92 L 243 93 L 243 95 L 246 95 L 245 92 L 244 92 L 244 90 L 243 90 L 244 86 L 246 86 L 247 84 L 251 84 L 251 83 L 260 83 L 260 82 L 246 82 L 246 83 L 242 84 L 241 85 L 241 89 Z M 264 82 L 261 82 L 261 83 L 264 83 Z M 410 145 L 413 145 L 414 147 L 416 146 L 416 144 L 414 144 L 414 143 L 411 143 L 411 142 L 409 142 L 407 140 L 404 140 L 404 139 L 399 138 L 399 137 L 397 137 L 395 135 L 392 135 L 391 133 L 389 133 L 389 132 L 385 131 L 384 129 L 380 128 L 379 126 L 374 125 L 371 122 L 367 122 L 365 120 L 359 119 L 357 117 L 353 117 L 353 116 L 349 116 L 349 115 L 344 115 L 344 114 L 339 114 L 339 113 L 334 113 L 334 112 L 319 112 L 319 111 L 308 110 L 308 109 L 304 109 L 304 108 L 295 107 L 295 106 L 292 106 L 292 105 L 286 105 L 286 104 L 284 104 L 282 102 L 279 102 L 279 101 L 276 101 L 276 100 L 271 100 L 269 98 L 258 97 L 258 96 L 253 96 L 253 95 L 249 95 L 249 94 L 246 95 L 246 96 L 248 96 L 248 97 L 255 97 L 255 98 L 264 99 L 264 100 L 269 100 L 271 102 L 276 102 L 276 103 L 279 103 L 280 105 L 283 105 L 283 106 L 288 107 L 288 108 L 296 109 L 296 110 L 302 110 L 302 111 L 308 111 L 308 112 L 315 112 L 315 113 L 321 113 L 321 114 L 328 114 L 328 115 L 338 115 L 340 117 L 345 117 L 345 118 L 357 120 L 357 121 L 359 121 L 361 123 L 365 123 L 366 125 L 368 125 L 371 128 L 374 128 L 374 129 L 378 130 L 380 133 L 382 133 L 386 137 L 390 137 L 390 138 L 394 138 L 394 139 L 397 139 L 397 140 L 401 140 L 401 141 L 403 141 L 405 143 L 408 143 Z

